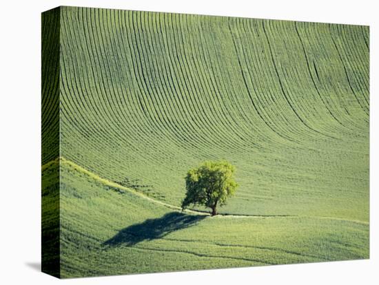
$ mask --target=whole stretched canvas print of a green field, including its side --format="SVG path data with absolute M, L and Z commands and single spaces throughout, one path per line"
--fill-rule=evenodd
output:
M 42 271 L 369 258 L 369 27 L 42 13 Z

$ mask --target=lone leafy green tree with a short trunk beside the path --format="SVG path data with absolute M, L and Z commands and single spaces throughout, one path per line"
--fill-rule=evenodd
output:
M 234 180 L 236 167 L 229 162 L 205 161 L 194 169 L 190 169 L 185 177 L 185 198 L 182 209 L 189 204 L 198 204 L 212 209 L 212 215 L 217 215 L 216 207 L 223 206 L 227 198 L 232 196 L 238 187 Z

